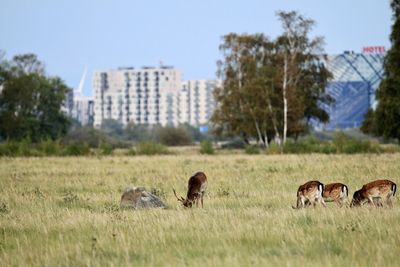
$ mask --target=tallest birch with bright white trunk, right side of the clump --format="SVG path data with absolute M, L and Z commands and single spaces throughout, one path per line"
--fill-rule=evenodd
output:
M 278 58 L 282 69 L 283 143 L 286 143 L 288 116 L 292 116 L 291 128 L 298 135 L 303 129 L 301 119 L 314 117 L 322 122 L 328 114 L 319 107 L 320 102 L 330 103 L 332 98 L 324 94 L 329 71 L 320 63 L 323 38 L 312 40 L 309 33 L 315 22 L 295 11 L 278 12 L 283 34 L 278 37 Z M 289 113 L 289 114 L 288 114 Z

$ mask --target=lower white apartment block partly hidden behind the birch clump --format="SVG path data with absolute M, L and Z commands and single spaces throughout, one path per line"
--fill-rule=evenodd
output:
M 215 110 L 213 91 L 220 80 L 189 80 L 182 83 L 178 96 L 179 123 L 206 126 Z

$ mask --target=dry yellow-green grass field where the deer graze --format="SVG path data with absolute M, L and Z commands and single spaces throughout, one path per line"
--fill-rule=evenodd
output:
M 184 209 L 172 188 L 198 170 L 205 207 Z M 393 209 L 291 208 L 307 180 L 352 195 L 379 178 L 400 184 L 400 154 L 0 158 L 0 265 L 399 266 L 398 194 Z M 129 184 L 169 208 L 120 210 Z

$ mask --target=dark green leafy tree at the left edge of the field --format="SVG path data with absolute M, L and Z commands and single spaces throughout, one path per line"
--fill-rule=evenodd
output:
M 26 60 L 26 61 L 25 61 Z M 64 135 L 69 120 L 61 111 L 69 88 L 60 78 L 42 75 L 36 56 L 15 56 L 3 64 L 0 93 L 0 136 L 32 141 Z

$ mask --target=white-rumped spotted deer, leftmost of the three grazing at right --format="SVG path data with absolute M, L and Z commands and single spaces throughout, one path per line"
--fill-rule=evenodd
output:
M 294 209 L 305 208 L 307 202 L 310 202 L 315 207 L 316 202 L 321 203 L 322 206 L 326 207 L 322 192 L 324 191 L 324 185 L 319 181 L 309 181 L 297 189 L 297 206 Z

